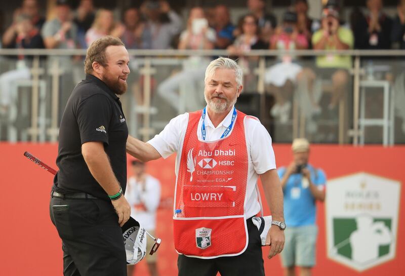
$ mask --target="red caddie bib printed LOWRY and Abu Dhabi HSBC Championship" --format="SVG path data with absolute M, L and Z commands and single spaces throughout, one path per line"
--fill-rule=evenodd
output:
M 177 252 L 198 258 L 235 256 L 248 246 L 246 114 L 237 111 L 232 131 L 207 142 L 197 137 L 201 111 L 189 113 L 175 190 Z

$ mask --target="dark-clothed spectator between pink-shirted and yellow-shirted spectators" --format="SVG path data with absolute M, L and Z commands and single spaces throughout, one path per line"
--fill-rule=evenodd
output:
M 313 20 L 308 15 L 308 1 L 307 0 L 294 0 L 294 11 L 297 13 L 297 29 L 299 33 L 302 33 L 307 38 L 309 43 L 308 48 L 312 48 L 310 45 L 312 34 L 320 28 L 320 24 L 317 20 Z

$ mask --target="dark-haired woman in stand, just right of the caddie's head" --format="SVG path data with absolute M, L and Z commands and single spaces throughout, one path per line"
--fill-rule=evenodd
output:
M 261 40 L 258 19 L 253 14 L 242 17 L 238 28 L 240 29 L 240 34 L 227 50 L 231 56 L 239 56 L 238 64 L 245 70 L 245 90 L 256 90 L 256 76 L 253 74 L 251 68 L 257 66 L 257 58 L 246 57 L 244 55 L 250 50 L 268 49 L 268 44 Z

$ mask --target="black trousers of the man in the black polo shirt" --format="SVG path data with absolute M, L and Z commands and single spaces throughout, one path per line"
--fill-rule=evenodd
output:
M 51 198 L 50 215 L 62 239 L 64 276 L 127 276 L 123 235 L 110 202 Z

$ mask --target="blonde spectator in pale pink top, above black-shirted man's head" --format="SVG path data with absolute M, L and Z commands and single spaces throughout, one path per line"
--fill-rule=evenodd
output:
M 96 13 L 96 18 L 94 19 L 92 27 L 86 32 L 87 47 L 89 47 L 93 41 L 106 35 L 121 37 L 124 30 L 124 25 L 114 22 L 112 11 L 99 9 Z

